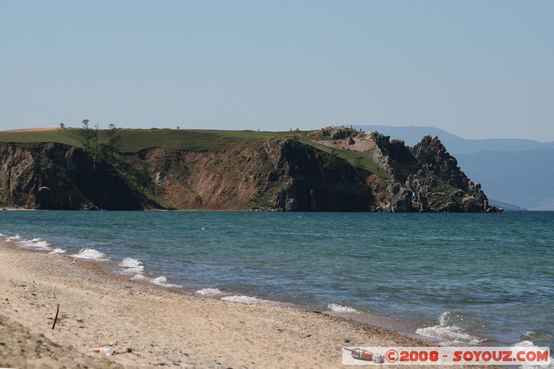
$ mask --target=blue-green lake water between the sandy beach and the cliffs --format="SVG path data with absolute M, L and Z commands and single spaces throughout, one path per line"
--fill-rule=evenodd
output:
M 554 212 L 2 211 L 0 233 L 192 293 L 393 318 L 442 343 L 554 347 Z

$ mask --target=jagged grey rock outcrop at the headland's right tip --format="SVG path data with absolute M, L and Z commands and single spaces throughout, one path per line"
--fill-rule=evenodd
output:
M 378 211 L 477 213 L 501 211 L 488 204 L 481 185 L 458 167 L 440 140 L 426 136 L 414 147 L 370 132 L 375 160 L 391 177 L 377 189 Z

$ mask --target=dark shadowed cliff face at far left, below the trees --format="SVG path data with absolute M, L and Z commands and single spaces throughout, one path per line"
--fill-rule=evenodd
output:
M 141 209 L 141 199 L 115 168 L 75 147 L 47 143 L 0 145 L 0 203 L 21 208 L 77 210 L 89 203 Z

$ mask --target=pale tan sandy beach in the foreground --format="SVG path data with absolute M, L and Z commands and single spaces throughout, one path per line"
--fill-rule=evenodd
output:
M 102 345 L 115 354 L 89 352 Z M 0 367 L 341 368 L 343 346 L 391 345 L 432 343 L 316 312 L 188 296 L 0 240 Z

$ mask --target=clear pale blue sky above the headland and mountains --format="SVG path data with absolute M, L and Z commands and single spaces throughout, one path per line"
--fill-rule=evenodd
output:
M 0 0 L 0 130 L 554 141 L 554 1 Z

